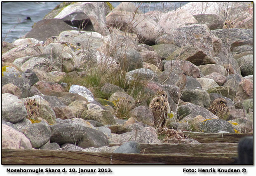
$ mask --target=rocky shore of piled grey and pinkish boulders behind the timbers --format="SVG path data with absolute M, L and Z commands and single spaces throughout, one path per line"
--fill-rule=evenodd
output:
M 131 2 L 58 5 L 2 42 L 2 148 L 139 153 L 140 143 L 199 143 L 169 140 L 173 130 L 252 132 L 253 7 L 214 12 L 224 4 L 204 14 L 199 2 L 146 14 Z M 161 135 L 148 107 L 159 89 L 171 110 Z M 227 120 L 207 110 L 218 97 Z

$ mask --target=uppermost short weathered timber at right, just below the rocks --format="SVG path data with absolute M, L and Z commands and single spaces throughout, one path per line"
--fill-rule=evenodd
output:
M 253 136 L 253 133 L 199 133 L 183 131 L 188 138 L 197 140 L 200 143 L 238 143 L 242 137 Z

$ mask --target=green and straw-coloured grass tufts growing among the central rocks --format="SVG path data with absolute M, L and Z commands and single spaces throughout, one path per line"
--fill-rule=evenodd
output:
M 101 87 L 106 83 L 114 84 L 126 92 L 126 94 L 132 96 L 136 102 L 136 106 L 139 105 L 148 105 L 150 102 L 150 94 L 146 92 L 146 85 L 148 82 L 144 80 L 134 79 L 133 81 L 128 82 L 126 80 L 125 71 L 118 69 L 114 71 L 104 70 L 104 67 L 92 67 L 85 71 L 85 76 L 71 76 L 67 75 L 61 80 L 61 82 L 66 82 L 68 87 L 66 91 L 68 92 L 70 86 L 73 84 L 87 87 L 94 98 L 106 99 L 108 100 L 110 94 L 101 92 Z M 114 92 L 113 92 L 114 93 Z M 115 107 L 116 115 L 119 118 L 126 118 L 129 112 L 129 109 L 124 106 Z

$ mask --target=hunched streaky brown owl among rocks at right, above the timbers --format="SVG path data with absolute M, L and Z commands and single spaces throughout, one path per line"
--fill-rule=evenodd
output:
M 227 101 L 223 98 L 215 99 L 208 108 L 211 113 L 218 116 L 220 119 L 227 120 L 230 110 L 227 106 Z

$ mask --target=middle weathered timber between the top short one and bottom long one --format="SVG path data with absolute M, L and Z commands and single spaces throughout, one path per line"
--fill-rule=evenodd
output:
M 110 146 L 122 144 L 109 144 Z M 237 153 L 237 143 L 161 143 L 161 144 L 141 144 L 141 153 L 148 154 L 202 154 L 202 153 Z

